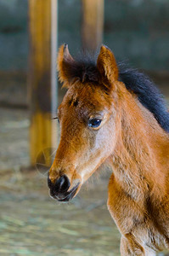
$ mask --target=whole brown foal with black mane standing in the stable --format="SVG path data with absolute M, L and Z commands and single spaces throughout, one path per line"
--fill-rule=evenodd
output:
M 107 205 L 121 232 L 121 255 L 150 256 L 169 248 L 169 114 L 157 100 L 150 108 L 155 96 L 163 104 L 160 94 L 151 94 L 147 78 L 137 93 L 138 72 L 133 88 L 127 87 L 130 69 L 121 79 L 104 45 L 96 62 L 76 61 L 62 45 L 58 69 L 68 90 L 58 109 L 61 137 L 48 176 L 51 195 L 70 201 L 107 162 L 113 170 Z

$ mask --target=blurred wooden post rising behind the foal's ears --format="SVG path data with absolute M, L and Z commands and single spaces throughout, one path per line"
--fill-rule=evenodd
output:
M 82 0 L 82 47 L 96 50 L 103 40 L 104 0 Z

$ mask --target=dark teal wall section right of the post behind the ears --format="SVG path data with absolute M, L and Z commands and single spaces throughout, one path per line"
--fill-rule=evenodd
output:
M 144 69 L 169 69 L 169 1 L 106 0 L 104 42 Z

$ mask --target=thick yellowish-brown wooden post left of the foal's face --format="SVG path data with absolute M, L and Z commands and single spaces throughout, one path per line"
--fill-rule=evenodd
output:
M 29 0 L 30 54 L 28 93 L 31 110 L 31 166 L 37 154 L 56 145 L 57 0 Z

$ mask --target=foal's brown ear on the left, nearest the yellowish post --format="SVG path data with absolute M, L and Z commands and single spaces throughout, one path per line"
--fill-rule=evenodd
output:
M 60 46 L 57 63 L 59 81 L 64 82 L 65 87 L 69 87 L 70 79 L 72 78 L 70 73 L 70 66 L 74 63 L 74 59 L 70 55 L 67 44 L 62 44 Z

